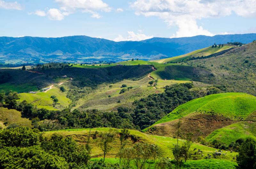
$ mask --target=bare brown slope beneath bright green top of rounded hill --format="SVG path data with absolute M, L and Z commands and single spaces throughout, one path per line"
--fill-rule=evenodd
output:
M 175 137 L 177 120 L 173 120 L 166 123 L 161 123 L 150 128 L 147 133 L 168 137 Z M 214 130 L 219 128 L 229 126 L 237 121 L 232 121 L 226 117 L 207 115 L 207 114 L 194 114 L 191 116 L 186 116 L 181 119 L 181 135 L 185 133 L 198 133 L 203 132 L 201 136 L 206 137 Z

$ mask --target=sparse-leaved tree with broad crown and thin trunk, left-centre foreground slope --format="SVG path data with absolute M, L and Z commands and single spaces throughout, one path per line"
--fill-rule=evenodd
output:
M 105 161 L 106 154 L 112 149 L 111 143 L 115 140 L 116 131 L 109 129 L 108 132 L 101 132 L 98 138 L 98 146 L 103 151 L 103 162 Z

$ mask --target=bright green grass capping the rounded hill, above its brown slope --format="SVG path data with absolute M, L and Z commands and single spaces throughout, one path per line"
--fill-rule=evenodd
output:
M 190 113 L 210 113 L 230 119 L 246 118 L 256 111 L 256 97 L 246 93 L 220 93 L 191 100 L 178 106 L 154 125 L 179 119 Z

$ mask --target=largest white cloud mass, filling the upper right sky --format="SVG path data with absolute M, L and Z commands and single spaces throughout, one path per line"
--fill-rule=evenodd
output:
M 131 4 L 136 15 L 157 16 L 168 27 L 177 26 L 172 37 L 213 34 L 198 26 L 202 18 L 225 17 L 236 13 L 238 16 L 256 15 L 256 0 L 136 0 Z

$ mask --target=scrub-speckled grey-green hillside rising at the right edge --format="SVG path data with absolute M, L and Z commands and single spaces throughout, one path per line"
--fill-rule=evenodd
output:
M 181 64 L 204 67 L 214 74 L 205 83 L 225 85 L 229 92 L 256 95 L 256 42 L 237 47 L 223 55 L 196 59 Z

